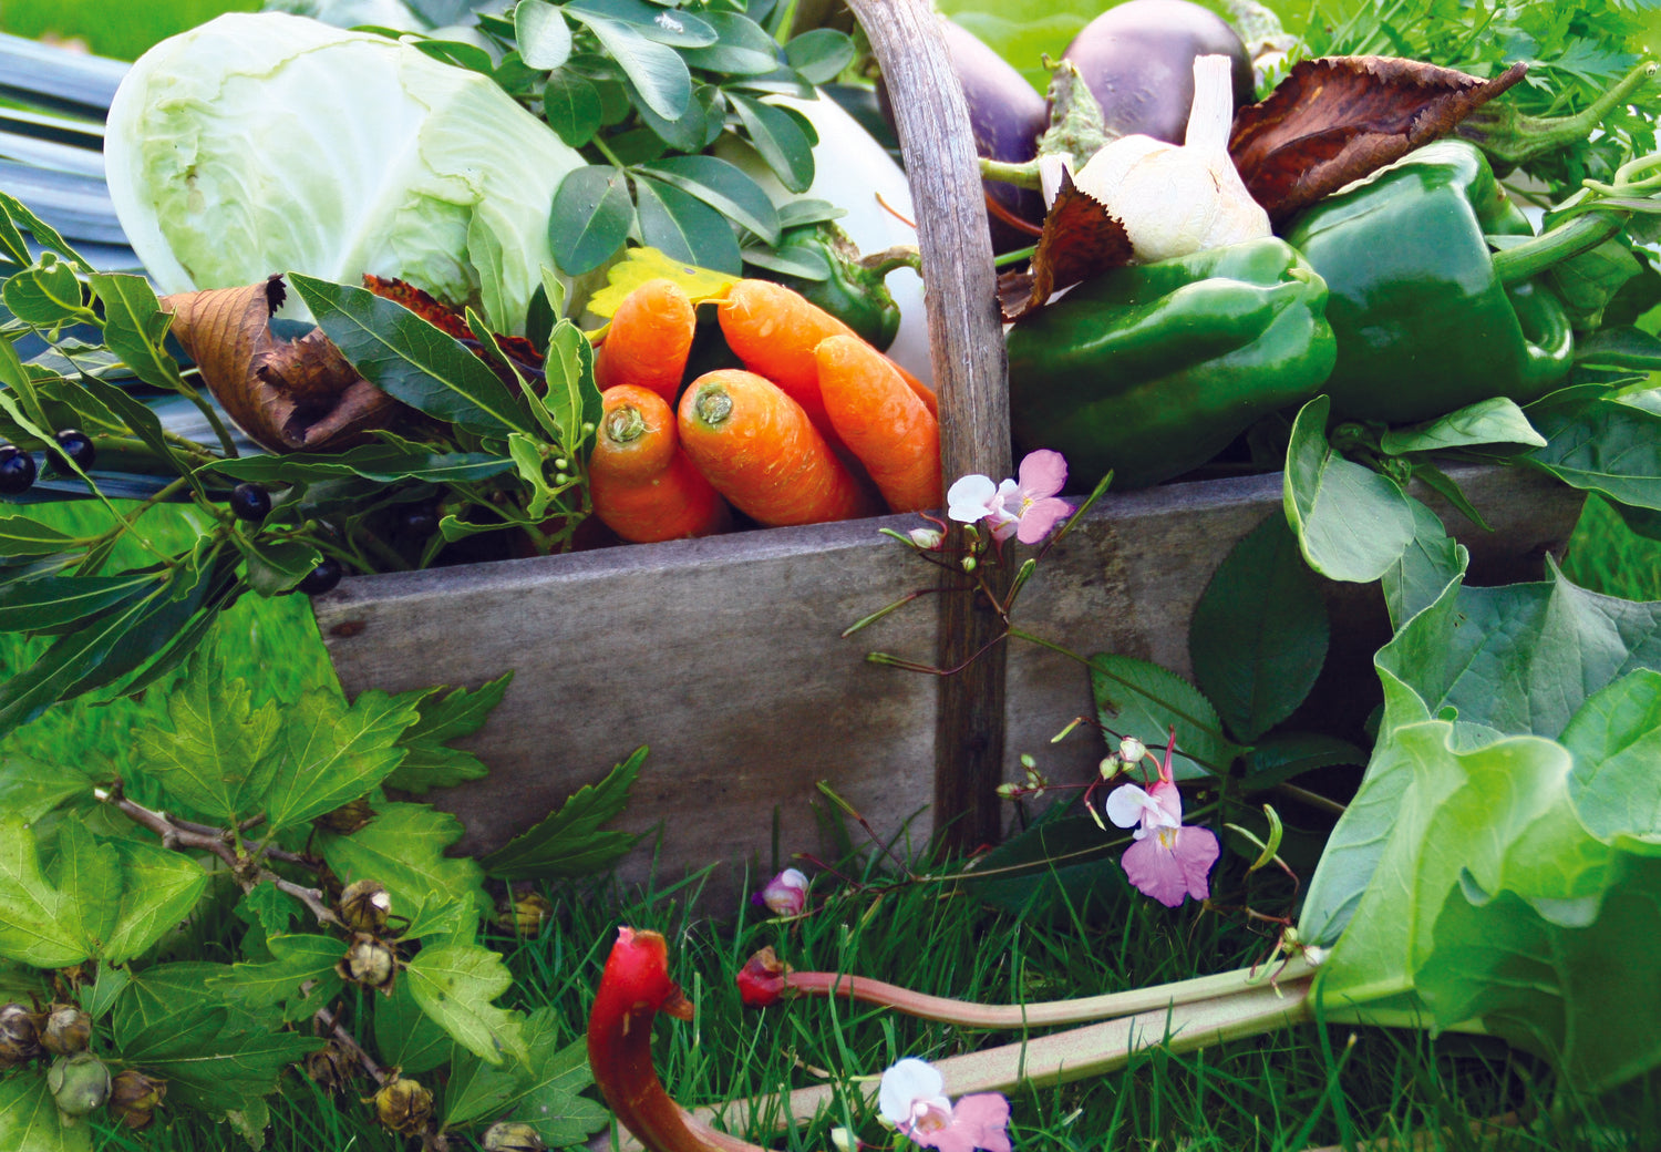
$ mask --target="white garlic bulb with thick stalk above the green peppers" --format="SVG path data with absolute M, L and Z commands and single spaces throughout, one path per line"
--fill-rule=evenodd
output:
M 1269 213 L 1251 198 L 1229 160 L 1229 66 L 1227 57 L 1194 58 L 1194 105 L 1181 145 L 1120 136 L 1073 178 L 1124 223 L 1138 261 L 1269 234 Z

